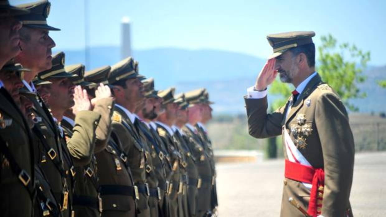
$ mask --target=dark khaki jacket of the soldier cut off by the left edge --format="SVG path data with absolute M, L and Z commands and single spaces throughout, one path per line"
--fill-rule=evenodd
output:
M 32 193 L 35 187 L 31 133 L 19 107 L 16 106 L 10 94 L 3 87 L 0 87 L 0 102 L 1 215 L 5 217 L 30 217 L 34 199 L 30 192 Z M 11 156 L 5 155 L 3 148 L 6 148 Z M 9 158 L 13 158 L 13 160 Z M 27 188 L 18 178 L 20 172 L 14 170 L 15 165 L 28 174 L 28 176 L 23 176 L 25 181 L 29 178 Z

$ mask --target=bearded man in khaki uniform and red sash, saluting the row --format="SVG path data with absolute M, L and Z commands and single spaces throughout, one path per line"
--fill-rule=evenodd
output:
M 344 104 L 315 71 L 313 36 L 314 32 L 267 36 L 274 53 L 245 97 L 249 134 L 283 135 L 281 216 L 352 216 L 354 140 Z M 267 86 L 277 74 L 295 91 L 285 105 L 267 114 Z

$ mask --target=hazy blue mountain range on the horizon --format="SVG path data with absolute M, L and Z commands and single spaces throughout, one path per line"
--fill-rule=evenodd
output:
M 66 64 L 85 63 L 84 50 L 63 50 Z M 157 48 L 134 50 L 134 59 L 139 61 L 139 71 L 146 77 L 154 77 L 157 89 L 176 87 L 176 93 L 205 87 L 215 113 L 245 113 L 246 88 L 252 86 L 265 60 L 236 52 L 221 50 L 185 50 Z M 90 67 L 112 65 L 120 61 L 119 47 L 90 48 Z M 360 112 L 386 111 L 386 89 L 378 87 L 376 81 L 386 79 L 386 66 L 368 67 L 364 72 L 367 80 L 359 85 L 367 93 L 365 99 L 354 99 L 352 103 Z M 270 96 L 269 101 L 277 96 Z

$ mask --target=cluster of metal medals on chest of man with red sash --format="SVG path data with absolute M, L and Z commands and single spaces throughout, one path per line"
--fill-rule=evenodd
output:
M 296 117 L 297 123 L 291 126 L 291 134 L 295 138 L 295 145 L 299 149 L 305 149 L 307 146 L 306 140 L 312 133 L 311 124 L 306 124 L 306 115 L 298 114 Z

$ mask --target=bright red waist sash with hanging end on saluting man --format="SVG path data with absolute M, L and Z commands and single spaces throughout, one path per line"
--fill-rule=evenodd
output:
M 322 168 L 313 168 L 300 163 L 285 161 L 284 177 L 312 184 L 310 202 L 308 203 L 308 214 L 311 216 L 320 215 L 322 211 L 324 171 Z M 318 203 L 319 201 L 319 203 Z

